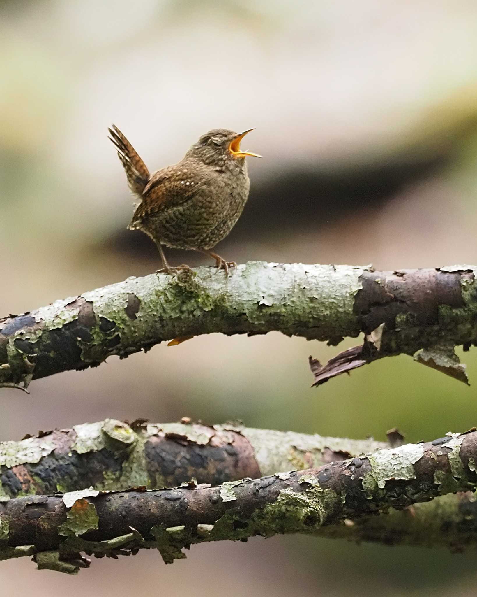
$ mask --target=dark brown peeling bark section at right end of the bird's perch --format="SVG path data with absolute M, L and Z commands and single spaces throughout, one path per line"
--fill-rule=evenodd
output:
M 474 266 L 367 270 L 360 281 L 363 288 L 356 295 L 354 309 L 360 315 L 364 343 L 339 353 L 324 365 L 310 356 L 314 386 L 399 353 L 413 355 L 417 362 L 469 385 L 465 365 L 460 364 L 454 347 L 463 344 L 468 350 L 475 344 L 475 337 L 463 338 L 464 327 L 470 336 L 475 330 Z M 462 319 L 464 312 L 469 317 L 467 326 Z

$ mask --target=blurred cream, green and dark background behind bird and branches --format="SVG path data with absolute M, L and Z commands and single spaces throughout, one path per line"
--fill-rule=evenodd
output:
M 215 127 L 256 127 L 249 203 L 220 252 L 236 261 L 477 261 L 474 0 L 2 0 L 0 313 L 152 272 L 126 231 L 114 122 L 154 170 Z M 172 263 L 200 256 L 168 252 Z M 197 337 L 2 390 L 0 437 L 106 417 L 409 441 L 476 424 L 471 387 L 410 358 L 311 389 L 307 358 L 339 349 L 278 333 Z M 21 579 L 21 580 L 20 580 Z M 311 537 L 94 560 L 78 577 L 1 562 L 10 597 L 475 595 L 475 556 Z

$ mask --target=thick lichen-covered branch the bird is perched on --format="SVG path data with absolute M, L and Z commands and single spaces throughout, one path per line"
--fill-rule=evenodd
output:
M 425 350 L 420 362 L 455 373 L 453 347 L 477 343 L 475 271 L 252 262 L 228 279 L 212 267 L 128 278 L 0 320 L 0 386 L 27 386 L 171 338 L 277 330 L 330 344 L 363 332 L 360 361 Z

